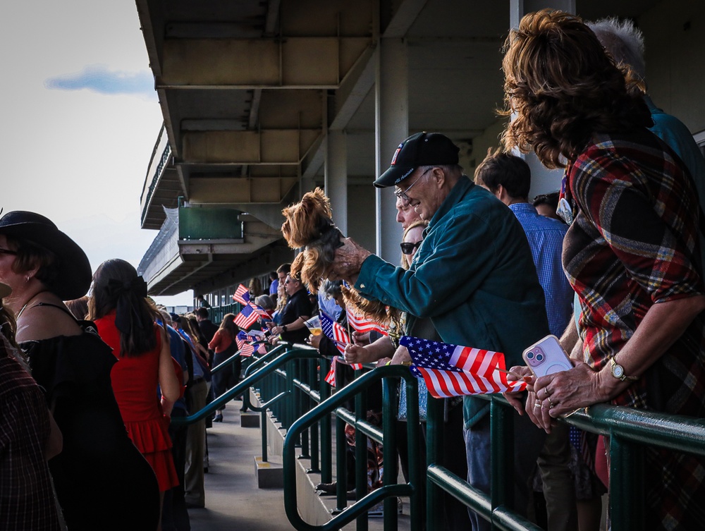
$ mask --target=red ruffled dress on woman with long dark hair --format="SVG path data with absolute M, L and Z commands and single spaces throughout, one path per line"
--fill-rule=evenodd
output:
M 157 325 L 154 334 L 157 346 L 139 356 L 123 356 L 120 332 L 115 326 L 115 312 L 95 319 L 98 334 L 112 349 L 118 362 L 113 365 L 110 379 L 118 401 L 125 428 L 137 449 L 152 465 L 161 492 L 176 487 L 178 477 L 171 455 L 168 420 L 157 396 L 159 385 L 159 351 L 161 336 Z

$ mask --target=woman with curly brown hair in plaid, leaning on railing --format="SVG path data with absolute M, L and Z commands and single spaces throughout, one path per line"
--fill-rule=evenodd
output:
M 582 310 L 575 367 L 537 379 L 529 417 L 549 431 L 559 415 L 607 401 L 702 417 L 697 195 L 682 161 L 646 129 L 638 79 L 580 18 L 550 10 L 522 18 L 503 68 L 515 113 L 507 149 L 565 168 L 563 266 Z M 646 448 L 646 462 L 646 527 L 700 527 L 703 459 Z

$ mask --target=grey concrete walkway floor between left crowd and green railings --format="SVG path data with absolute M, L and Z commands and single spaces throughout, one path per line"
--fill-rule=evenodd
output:
M 262 453 L 259 428 L 240 427 L 242 402 L 223 411 L 207 429 L 209 471 L 206 508 L 189 509 L 192 531 L 289 531 L 282 489 L 259 489 L 255 456 Z

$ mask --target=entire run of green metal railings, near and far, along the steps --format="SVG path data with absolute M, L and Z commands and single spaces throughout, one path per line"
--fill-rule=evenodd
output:
M 214 367 L 217 372 L 231 363 L 237 356 Z M 421 470 L 418 459 L 418 390 L 417 381 L 406 367 L 379 367 L 367 374 L 357 372 L 357 379 L 338 389 L 330 396 L 329 385 L 324 374 L 329 370 L 330 360 L 322 358 L 316 350 L 300 345 L 283 343 L 261 358 L 252 358 L 245 370 L 245 378 L 203 410 L 173 422 L 190 423 L 213 413 L 235 396 L 243 394 L 245 404 L 262 414 L 262 453 L 266 459 L 266 411 L 271 410 L 276 422 L 286 429 L 283 448 L 284 505 L 292 525 L 300 531 L 332 531 L 357 520 L 357 529 L 367 531 L 367 511 L 384 501 L 384 528 L 391 531 L 397 527 L 396 496 L 410 496 L 412 531 L 421 525 L 417 508 Z M 393 423 L 396 422 L 396 382 L 402 379 L 407 389 L 407 444 L 409 450 L 410 478 L 407 484 L 395 484 L 398 470 L 396 458 L 385 462 L 383 486 L 366 496 L 358 495 L 357 501 L 347 505 L 345 499 L 345 436 L 348 423 L 355 427 L 357 493 L 367 492 L 367 437 L 384 446 L 384 453 L 396 456 L 396 439 Z M 367 410 L 366 391 L 382 380 L 383 426 L 381 429 L 365 419 Z M 248 393 L 251 386 L 259 386 L 259 402 L 252 405 Z M 355 397 L 355 413 L 341 404 Z M 287 400 L 283 400 L 287 398 Z M 513 415 L 515 412 L 501 396 L 481 396 L 491 402 L 490 429 L 492 441 L 514 441 Z M 338 492 L 337 511 L 324 525 L 311 525 L 298 514 L 295 480 L 295 460 L 310 458 L 309 472 L 320 472 L 322 482 L 331 482 L 332 427 L 331 417 L 336 418 Z M 612 405 L 594 405 L 587 410 L 571 415 L 562 422 L 587 432 L 610 437 L 610 493 L 611 525 L 613 531 L 641 529 L 644 527 L 644 446 L 658 446 L 670 451 L 694 453 L 705 456 L 705 419 L 678 417 L 645 410 L 621 408 Z M 489 493 L 475 489 L 466 478 L 458 477 L 444 468 L 440 448 L 444 437 L 443 401 L 429 396 L 427 411 L 427 482 L 426 482 L 426 527 L 429 531 L 443 529 L 443 493 L 465 503 L 482 518 L 489 520 L 494 529 L 540 530 L 537 525 L 511 511 L 513 482 L 502 478 L 513 477 L 512 444 L 491 444 L 491 471 L 493 481 Z M 460 437 L 460 434 L 457 434 Z M 300 455 L 296 456 L 297 449 Z M 319 466 L 320 464 L 320 466 Z

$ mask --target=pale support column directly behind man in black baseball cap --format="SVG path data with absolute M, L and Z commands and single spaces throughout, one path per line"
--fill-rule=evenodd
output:
M 399 143 L 409 136 L 407 47 L 403 39 L 379 39 L 374 85 L 376 177 L 391 163 Z M 396 222 L 394 188 L 376 190 L 376 254 L 399 262 L 402 228 Z

